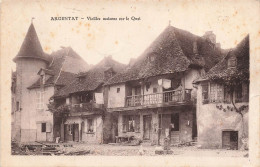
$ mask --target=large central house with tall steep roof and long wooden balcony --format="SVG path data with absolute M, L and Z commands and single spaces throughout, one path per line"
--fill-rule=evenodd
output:
M 172 144 L 196 139 L 193 80 L 222 58 L 214 38 L 168 26 L 127 69 L 105 83 L 107 110 L 118 117 L 118 137 L 150 144 L 162 144 L 166 136 Z

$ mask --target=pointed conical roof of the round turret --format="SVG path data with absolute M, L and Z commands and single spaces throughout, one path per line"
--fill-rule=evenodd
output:
M 34 58 L 41 59 L 46 62 L 50 61 L 50 56 L 43 52 L 41 43 L 39 41 L 33 23 L 30 25 L 27 31 L 27 34 L 18 54 L 13 59 L 14 62 L 16 62 L 19 58 Z

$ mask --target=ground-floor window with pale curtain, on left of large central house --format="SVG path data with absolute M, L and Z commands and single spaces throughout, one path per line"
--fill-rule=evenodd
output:
M 140 131 L 140 116 L 124 115 L 123 132 L 139 132 L 139 131 Z

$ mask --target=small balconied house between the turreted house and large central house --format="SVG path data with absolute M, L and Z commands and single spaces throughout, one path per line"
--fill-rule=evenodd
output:
M 63 114 L 55 115 L 56 137 L 65 142 L 111 141 L 113 118 L 106 112 L 107 95 L 103 84 L 124 68 L 125 65 L 111 56 L 105 57 L 55 93 L 56 108 L 63 108 Z

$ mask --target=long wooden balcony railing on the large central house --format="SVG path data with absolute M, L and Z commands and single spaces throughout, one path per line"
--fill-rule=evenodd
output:
M 191 101 L 191 89 L 165 91 L 146 95 L 134 95 L 126 97 L 126 107 L 153 105 L 163 103 L 184 103 Z

